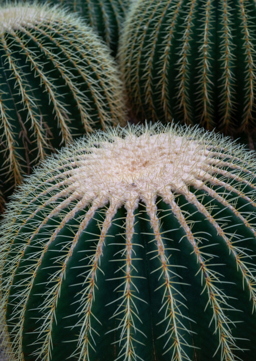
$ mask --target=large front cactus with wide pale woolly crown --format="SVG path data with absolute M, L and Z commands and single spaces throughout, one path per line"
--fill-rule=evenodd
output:
M 47 159 L 2 221 L 10 359 L 251 361 L 255 166 L 228 138 L 159 123 Z

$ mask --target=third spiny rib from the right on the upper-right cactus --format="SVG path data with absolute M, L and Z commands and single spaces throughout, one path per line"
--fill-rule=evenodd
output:
M 213 45 L 211 44 L 210 37 L 211 34 L 211 20 L 213 18 L 213 4 L 211 0 L 208 0 L 207 3 L 204 5 L 205 7 L 205 15 L 203 18 L 203 29 L 202 31 L 202 39 L 200 39 L 199 52 L 200 56 L 198 57 L 199 60 L 199 80 L 196 82 L 198 85 L 198 94 L 199 98 L 199 119 L 200 124 L 202 124 L 206 129 L 213 129 L 214 122 L 213 122 L 213 108 L 211 107 L 212 103 L 212 86 L 213 81 L 212 73 L 211 73 L 211 52 L 213 52 Z M 202 30 L 203 30 L 202 29 Z

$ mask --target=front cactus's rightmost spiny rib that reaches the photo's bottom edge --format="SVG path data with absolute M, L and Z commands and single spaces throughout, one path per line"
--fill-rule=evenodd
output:
M 202 286 L 203 279 L 205 280 L 205 287 L 203 292 L 207 290 L 209 297 L 208 304 L 211 305 L 213 311 L 213 318 L 211 322 L 215 320 L 215 332 L 219 333 L 220 342 L 216 353 L 218 349 L 221 348 L 221 360 L 235 360 L 234 351 L 239 350 L 240 348 L 236 345 L 235 337 L 231 332 L 230 324 L 233 324 L 233 322 L 225 315 L 223 306 L 225 309 L 233 310 L 233 308 L 226 300 L 228 296 L 226 296 L 224 292 L 218 287 L 218 285 L 221 286 L 224 281 L 220 280 L 220 275 L 211 270 L 210 263 L 208 263 L 209 259 L 211 259 L 213 255 L 207 254 L 205 251 L 201 252 L 199 247 L 200 240 L 197 240 L 197 238 L 193 235 L 193 232 L 188 226 L 180 207 L 175 203 L 173 196 L 165 194 L 163 199 L 171 206 L 172 212 L 179 221 L 182 229 L 185 231 L 188 241 L 194 247 L 194 252 L 198 258 L 198 262 L 200 263 L 199 272 L 202 274 Z M 237 359 L 240 358 L 237 357 Z

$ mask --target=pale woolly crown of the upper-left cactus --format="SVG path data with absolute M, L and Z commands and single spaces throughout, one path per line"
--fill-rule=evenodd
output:
M 32 27 L 46 18 L 45 10 L 37 7 L 11 6 L 0 10 L 0 34 L 23 26 Z

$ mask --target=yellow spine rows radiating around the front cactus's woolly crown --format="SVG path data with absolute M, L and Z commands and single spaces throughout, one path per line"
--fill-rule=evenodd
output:
M 163 131 L 161 126 L 159 126 L 159 129 L 155 127 L 150 128 L 147 131 L 150 134 L 154 134 L 154 132 L 157 133 L 160 130 Z M 174 129 L 172 131 L 175 132 Z M 14 324 L 11 334 L 13 335 L 12 342 L 16 344 L 14 349 L 19 359 L 23 359 L 21 345 L 23 338 L 23 315 L 25 315 L 26 303 L 30 291 L 34 286 L 33 280 L 36 277 L 43 256 L 46 254 L 50 244 L 56 240 L 58 233 L 61 232 L 63 227 L 65 227 L 69 221 L 74 219 L 74 225 L 70 224 L 71 234 L 73 233 L 73 236 L 70 235 L 63 239 L 63 242 L 61 242 L 61 254 L 59 254 L 59 250 L 56 249 L 58 255 L 56 262 L 53 262 L 52 267 L 57 267 L 58 269 L 54 270 L 51 277 L 47 280 L 49 285 L 51 285 L 51 283 L 53 284 L 47 291 L 45 300 L 40 304 L 40 310 L 43 311 L 43 320 L 37 329 L 39 336 L 35 343 L 40 345 L 40 350 L 38 348 L 38 353 L 36 352 L 35 355 L 37 357 L 43 357 L 43 359 L 45 359 L 45 357 L 47 357 L 46 359 L 51 359 L 51 330 L 54 318 L 56 317 L 55 312 L 58 298 L 60 297 L 60 286 L 66 277 L 67 263 L 72 257 L 75 246 L 78 244 L 79 236 L 83 233 L 87 233 L 86 227 L 90 220 L 95 218 L 96 222 L 98 222 L 100 232 L 97 231 L 97 234 L 91 235 L 91 238 L 88 236 L 92 248 L 90 250 L 88 249 L 87 252 L 88 254 L 92 252 L 92 255 L 86 256 L 86 258 L 89 259 L 87 265 L 89 269 L 87 270 L 85 267 L 82 267 L 82 269 L 85 270 L 85 273 L 83 272 L 85 279 L 82 282 L 83 290 L 79 293 L 80 299 L 79 301 L 77 300 L 76 314 L 79 315 L 78 321 L 76 325 L 73 325 L 73 327 L 79 326 L 80 332 L 77 340 L 77 351 L 71 356 L 82 360 L 87 359 L 89 353 L 92 352 L 93 354 L 93 352 L 96 352 L 93 340 L 97 335 L 97 331 L 93 330 L 91 322 L 92 319 L 97 316 L 93 314 L 92 306 L 97 288 L 97 277 L 100 277 L 99 275 L 101 274 L 100 262 L 103 262 L 103 247 L 108 237 L 113 236 L 108 233 L 111 224 L 118 224 L 120 220 L 124 219 L 124 221 L 121 222 L 120 232 L 117 237 L 119 241 L 124 237 L 122 243 L 123 247 L 121 246 L 119 249 L 118 246 L 120 246 L 120 244 L 118 244 L 118 240 L 115 239 L 114 241 L 116 252 L 120 254 L 120 259 L 115 259 L 115 261 L 124 263 L 117 268 L 122 274 L 119 277 L 121 283 L 117 289 L 115 289 L 116 292 L 120 292 L 117 297 L 118 307 L 112 315 L 117 321 L 116 328 L 110 330 L 110 332 L 120 331 L 120 337 L 115 340 L 116 344 L 119 344 L 120 349 L 119 354 L 116 355 L 116 359 L 123 358 L 127 361 L 131 361 L 136 359 L 136 356 L 139 357 L 136 351 L 136 343 L 138 341 L 138 332 L 140 333 L 140 329 L 137 328 L 134 319 L 140 320 L 142 315 L 140 315 L 136 306 L 137 301 L 135 302 L 135 300 L 139 299 L 142 302 L 145 302 L 145 300 L 139 295 L 136 279 L 143 279 L 144 277 L 140 277 L 138 274 L 136 261 L 140 258 L 134 254 L 136 246 L 140 248 L 139 246 L 141 246 L 141 244 L 136 244 L 133 237 L 138 234 L 139 230 L 138 228 L 135 230 L 135 228 L 137 227 L 136 224 L 141 222 L 140 219 L 148 219 L 149 222 L 146 222 L 149 223 L 148 232 L 144 232 L 143 234 L 144 237 L 148 237 L 147 243 L 150 244 L 153 242 L 156 245 L 156 249 L 148 252 L 148 254 L 153 253 L 151 259 L 159 260 L 159 268 L 154 269 L 154 273 L 160 273 L 158 278 L 158 289 L 164 290 L 161 310 L 165 310 L 165 316 L 163 320 L 160 320 L 159 324 L 168 319 L 164 333 L 159 335 L 159 337 L 165 337 L 165 347 L 163 351 L 165 353 L 171 351 L 171 359 L 173 361 L 189 360 L 190 356 L 188 353 L 190 351 L 185 351 L 184 348 L 184 346 L 189 346 L 186 337 L 184 336 L 184 332 L 185 334 L 192 334 L 193 332 L 185 325 L 185 319 L 189 322 L 193 322 L 193 320 L 185 316 L 186 312 L 183 308 L 185 299 L 177 288 L 182 282 L 180 280 L 177 283 L 177 281 L 175 282 L 175 280 L 173 280 L 177 275 L 172 271 L 172 265 L 169 261 L 170 255 L 168 256 L 169 253 L 165 241 L 165 233 L 167 230 L 161 229 L 164 225 L 164 219 L 169 213 L 174 216 L 178 221 L 180 228 L 183 230 L 184 235 L 181 237 L 180 241 L 184 237 L 188 239 L 193 247 L 193 252 L 199 264 L 198 273 L 201 274 L 202 285 L 204 285 L 203 291 L 208 294 L 208 308 L 211 308 L 213 311 L 212 322 L 215 322 L 215 333 L 219 335 L 219 350 L 216 350 L 216 352 L 221 353 L 220 359 L 226 361 L 239 359 L 239 357 L 235 356 L 235 352 L 239 347 L 236 344 L 236 338 L 232 335 L 232 328 L 235 324 L 226 316 L 227 310 L 235 311 L 235 309 L 233 309 L 228 302 L 230 297 L 225 295 L 222 290 L 226 281 L 224 281 L 220 273 L 216 273 L 216 264 L 212 264 L 211 262 L 212 259 L 216 259 L 216 261 L 218 259 L 217 256 L 208 250 L 208 247 L 210 248 L 213 244 L 205 243 L 207 235 L 204 236 L 204 232 L 198 232 L 198 234 L 197 232 L 193 232 L 196 222 L 191 221 L 188 213 L 182 208 L 187 205 L 194 205 L 198 209 L 198 212 L 204 215 L 208 222 L 216 229 L 218 235 L 222 237 L 229 249 L 230 256 L 233 256 L 236 260 L 237 269 L 242 275 L 244 287 L 249 290 L 251 304 L 254 309 L 256 305 L 256 290 L 254 267 L 253 264 L 251 264 L 251 262 L 253 262 L 253 256 L 248 253 L 248 249 L 240 244 L 240 242 L 243 241 L 243 238 L 239 235 L 239 232 L 237 232 L 238 234 L 236 233 L 239 227 L 236 228 L 236 226 L 233 226 L 236 228 L 235 231 L 233 228 L 230 228 L 228 221 L 229 217 L 216 218 L 220 211 L 213 215 L 216 206 L 211 204 L 211 202 L 205 202 L 204 195 L 197 194 L 199 190 L 203 190 L 205 191 L 205 195 L 210 195 L 212 199 L 217 200 L 224 209 L 231 210 L 237 219 L 239 219 L 239 221 L 241 221 L 248 229 L 252 238 L 255 238 L 256 225 L 253 214 L 248 213 L 246 210 L 243 211 L 242 208 L 244 208 L 244 206 L 237 206 L 238 199 L 245 200 L 253 208 L 256 206 L 254 197 L 256 189 L 255 172 L 253 171 L 254 163 L 249 159 L 249 154 L 244 152 L 240 153 L 239 149 L 235 149 L 233 145 L 231 148 L 230 145 L 227 144 L 226 139 L 221 140 L 219 136 L 215 136 L 214 139 L 213 134 L 207 138 L 207 136 L 202 135 L 202 131 L 199 130 L 194 131 L 194 134 L 191 131 L 181 131 L 177 132 L 177 134 L 183 134 L 184 136 L 191 134 L 192 139 L 198 139 L 202 144 L 206 144 L 205 153 L 209 156 L 209 169 L 206 171 L 205 177 L 195 179 L 193 184 L 188 185 L 188 187 L 195 187 L 196 192 L 188 192 L 187 190 L 184 191 L 182 189 L 172 190 L 172 192 L 167 192 L 166 190 L 158 192 L 158 197 L 160 197 L 165 204 L 170 206 L 169 210 L 161 210 L 161 206 L 158 206 L 159 201 L 157 201 L 156 195 L 152 195 L 151 197 L 145 196 L 145 198 L 141 200 L 131 198 L 126 201 L 117 200 L 111 196 L 109 196 L 109 199 L 99 196 L 96 199 L 86 201 L 86 197 L 79 195 L 77 190 L 72 189 L 69 178 L 72 176 L 74 167 L 76 167 L 77 164 L 83 164 L 83 156 L 86 154 L 87 150 L 90 151 L 92 149 L 91 147 L 94 146 L 98 147 L 102 141 L 111 143 L 115 136 L 129 137 L 131 134 L 139 136 L 141 133 L 142 129 L 140 127 L 133 128 L 132 131 L 116 130 L 109 134 L 101 134 L 101 139 L 99 139 L 99 134 L 97 134 L 92 136 L 89 142 L 80 141 L 76 143 L 74 148 L 70 147 L 69 150 L 63 151 L 57 156 L 56 160 L 48 160 L 44 165 L 45 168 L 43 170 L 38 170 L 29 179 L 29 183 L 23 186 L 23 193 L 20 194 L 21 203 L 16 201 L 8 206 L 9 212 L 6 216 L 7 223 L 5 222 L 4 227 L 6 229 L 6 225 L 9 223 L 10 227 L 7 228 L 10 229 L 11 233 L 6 234 L 3 240 L 3 242 L 5 242 L 5 246 L 3 247 L 5 255 L 2 256 L 1 266 L 4 271 L 2 297 L 5 306 L 3 307 L 3 312 L 6 308 L 13 276 L 17 272 L 19 265 L 22 267 L 22 264 L 20 264 L 21 258 L 26 253 L 26 249 L 29 247 L 34 237 L 40 234 L 40 231 L 44 234 L 44 237 L 40 240 L 42 249 L 37 250 L 36 246 L 34 256 L 29 256 L 27 258 L 26 269 L 21 271 L 24 275 L 22 283 L 26 284 L 25 291 L 24 287 L 19 291 L 17 285 L 17 291 L 13 295 L 17 299 L 17 305 L 15 306 L 16 311 L 11 319 L 15 321 L 17 318 L 19 319 L 19 322 Z M 226 170 L 227 167 L 229 170 Z M 41 180 L 38 181 L 38 179 Z M 216 185 L 220 188 L 224 187 L 227 194 L 222 193 L 222 190 L 219 192 L 218 190 L 216 191 L 214 187 Z M 250 193 L 246 191 L 246 188 L 250 189 Z M 179 194 L 183 195 L 186 199 L 186 204 L 183 206 L 178 204 L 177 195 Z M 233 194 L 235 197 L 229 199 L 229 194 Z M 143 203 L 145 207 L 140 207 L 138 202 L 140 204 Z M 126 209 L 126 215 L 124 218 L 123 215 L 120 214 L 115 217 L 117 210 L 123 204 Z M 140 207 L 139 213 L 137 212 L 138 207 Z M 86 210 L 85 213 L 76 216 L 78 212 L 83 209 Z M 98 216 L 96 216 L 96 214 L 98 214 Z M 47 230 L 47 223 L 51 219 L 54 220 L 54 217 L 56 217 L 56 220 L 54 221 L 55 225 L 53 229 L 51 230 L 51 226 L 48 224 Z M 26 235 L 26 243 L 24 243 L 24 235 L 22 234 L 24 232 Z M 89 230 L 88 232 L 90 233 Z M 139 231 L 139 233 L 140 232 L 141 231 Z M 69 239 L 69 237 L 71 238 Z M 246 239 L 244 239 L 244 241 L 245 240 Z M 16 242 L 15 246 L 13 241 Z M 53 251 L 53 249 L 51 249 L 51 251 Z M 8 256 L 9 252 L 12 253 L 11 258 Z M 151 255 L 149 255 L 149 257 L 151 257 Z M 16 262 L 14 262 L 14 259 Z M 4 264 L 5 262 L 6 265 Z M 30 262 L 30 265 L 28 262 Z M 7 264 L 9 264 L 8 268 L 6 267 Z M 11 267 L 9 267 L 10 265 Z M 79 265 L 77 265 L 77 267 L 79 267 Z M 27 273 L 28 269 L 30 270 L 29 273 Z M 160 282 L 161 279 L 163 283 Z M 181 299 L 177 294 L 179 294 Z M 100 322 L 100 320 L 98 321 Z M 44 335 L 45 333 L 46 336 Z M 143 333 L 144 332 L 142 332 L 142 334 Z M 137 334 L 136 337 L 135 334 Z

